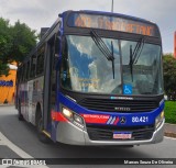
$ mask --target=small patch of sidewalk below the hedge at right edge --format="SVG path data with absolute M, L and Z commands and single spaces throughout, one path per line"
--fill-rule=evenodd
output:
M 168 136 L 168 137 L 175 137 L 176 138 L 176 124 L 165 123 L 164 135 Z

